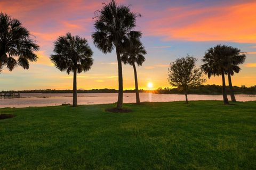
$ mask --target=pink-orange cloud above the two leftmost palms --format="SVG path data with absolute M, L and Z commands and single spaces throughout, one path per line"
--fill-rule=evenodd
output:
M 81 30 L 86 31 L 93 22 L 94 11 L 101 6 L 102 2 L 81 0 L 10 0 L 0 1 L 0 12 L 19 19 L 37 37 L 39 45 L 43 46 L 67 32 L 75 35 Z M 80 16 L 84 17 L 81 19 Z

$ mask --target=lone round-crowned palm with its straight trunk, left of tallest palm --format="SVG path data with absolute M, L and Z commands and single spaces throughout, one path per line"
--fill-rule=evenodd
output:
M 54 42 L 54 55 L 50 59 L 60 71 L 74 73 L 73 77 L 73 106 L 77 106 L 76 74 L 86 72 L 93 64 L 93 52 L 87 40 L 79 36 L 60 36 Z

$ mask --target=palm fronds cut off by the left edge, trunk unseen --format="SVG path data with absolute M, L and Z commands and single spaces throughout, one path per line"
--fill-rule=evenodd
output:
M 29 69 L 29 61 L 35 62 L 38 58 L 35 54 L 37 50 L 39 50 L 39 46 L 33 39 L 30 39 L 29 31 L 22 27 L 21 22 L 1 12 L 0 73 L 4 65 L 9 71 L 18 65 L 23 69 Z

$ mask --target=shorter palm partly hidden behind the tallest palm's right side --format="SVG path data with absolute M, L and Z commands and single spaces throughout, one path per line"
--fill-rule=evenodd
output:
M 124 64 L 130 64 L 133 66 L 134 71 L 134 79 L 135 79 L 135 92 L 136 92 L 136 103 L 140 103 L 140 96 L 139 96 L 139 87 L 138 87 L 138 78 L 137 78 L 137 70 L 135 63 L 138 64 L 138 66 L 141 66 L 143 62 L 145 62 L 145 57 L 143 55 L 147 54 L 145 48 L 143 47 L 140 40 L 138 40 L 138 37 L 141 37 L 141 33 L 139 34 L 137 32 L 131 31 L 129 33 L 129 39 L 126 40 L 125 46 L 121 60 Z

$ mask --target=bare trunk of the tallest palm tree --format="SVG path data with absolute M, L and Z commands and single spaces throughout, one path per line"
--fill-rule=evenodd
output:
M 119 47 L 116 45 L 116 56 L 117 56 L 117 64 L 118 64 L 118 100 L 117 100 L 117 108 L 122 109 L 123 107 L 123 73 L 122 73 L 122 61 L 119 52 Z

